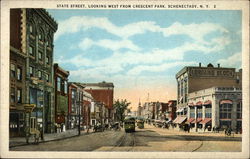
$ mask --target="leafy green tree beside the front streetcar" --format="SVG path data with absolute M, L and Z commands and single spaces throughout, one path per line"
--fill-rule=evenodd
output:
M 127 102 L 126 99 L 122 99 L 122 100 L 116 100 L 113 104 L 113 107 L 116 109 L 116 116 L 117 116 L 117 119 L 120 120 L 120 121 L 123 121 L 124 120 L 124 117 L 125 117 L 125 110 L 127 109 L 127 107 L 130 105 L 131 103 L 130 102 Z

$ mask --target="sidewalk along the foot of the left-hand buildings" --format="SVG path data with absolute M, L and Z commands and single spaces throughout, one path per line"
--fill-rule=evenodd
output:
M 92 132 L 93 130 L 89 129 L 89 133 L 92 133 Z M 81 131 L 81 135 L 86 135 L 86 134 L 87 134 L 87 129 Z M 61 132 L 61 133 L 44 134 L 44 140 L 41 140 L 41 138 L 39 138 L 39 143 L 62 140 L 62 139 L 71 138 L 75 136 L 78 136 L 78 129 L 71 129 L 65 132 Z M 29 144 L 34 144 L 33 136 L 30 137 Z M 28 145 L 26 143 L 25 137 L 12 137 L 9 139 L 9 147 L 24 146 L 24 145 Z

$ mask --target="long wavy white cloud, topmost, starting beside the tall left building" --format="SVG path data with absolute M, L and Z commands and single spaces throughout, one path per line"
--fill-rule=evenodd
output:
M 58 21 L 58 30 L 55 34 L 55 39 L 68 33 L 76 33 L 80 30 L 90 28 L 99 28 L 122 38 L 128 38 L 136 34 L 143 34 L 146 31 L 156 32 L 160 29 L 152 21 L 140 21 L 137 23 L 127 24 L 123 27 L 114 25 L 106 17 L 91 17 L 91 16 L 73 16 L 69 19 Z

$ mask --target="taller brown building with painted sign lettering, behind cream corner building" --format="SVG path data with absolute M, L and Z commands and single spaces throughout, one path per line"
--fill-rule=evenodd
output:
M 214 67 L 211 63 L 207 67 L 187 66 L 176 74 L 177 80 L 177 115 L 187 115 L 188 94 L 194 91 L 218 86 L 241 87 L 242 70 L 235 68 Z

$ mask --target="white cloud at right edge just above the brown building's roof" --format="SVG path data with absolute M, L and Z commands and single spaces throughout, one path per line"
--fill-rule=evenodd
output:
M 225 67 L 236 67 L 241 68 L 242 64 L 242 54 L 240 52 L 233 54 L 232 56 L 229 56 L 225 59 L 220 59 L 217 61 L 217 63 L 220 63 L 221 66 Z

